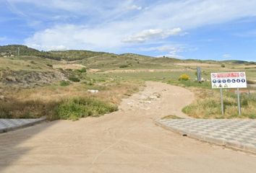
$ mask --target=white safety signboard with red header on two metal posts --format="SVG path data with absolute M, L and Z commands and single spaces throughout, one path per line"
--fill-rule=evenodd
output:
M 247 88 L 247 80 L 245 72 L 228 72 L 228 73 L 211 73 L 211 84 L 213 89 L 221 89 L 221 112 L 223 110 L 223 94 L 222 89 L 236 88 L 238 112 L 241 115 L 239 88 Z

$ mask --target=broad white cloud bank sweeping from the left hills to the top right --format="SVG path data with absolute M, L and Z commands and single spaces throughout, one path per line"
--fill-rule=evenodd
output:
M 109 51 L 113 51 L 126 45 L 143 44 L 182 34 L 180 28 L 186 33 L 190 29 L 205 25 L 256 16 L 256 0 L 154 1 L 151 2 L 153 4 L 142 0 L 144 4 L 148 4 L 146 8 L 141 7 L 143 3 L 136 1 L 135 5 L 135 1 L 132 0 L 8 1 L 13 5 L 33 4 L 38 9 L 44 9 L 41 15 L 51 18 L 58 16 L 56 20 L 67 16 L 67 12 L 69 12 L 68 16 L 74 15 L 81 19 L 82 22 L 79 24 L 75 22 L 59 24 L 58 21 L 54 21 L 53 27 L 37 31 L 25 40 L 25 44 L 38 45 L 40 48 L 63 45 L 65 48 L 73 49 L 108 50 L 111 48 Z M 128 10 L 129 8 L 137 10 Z M 37 14 L 37 10 L 33 13 L 33 9 L 29 9 L 27 12 L 20 11 L 22 14 L 30 15 L 30 18 L 33 14 Z M 46 11 L 55 15 L 49 15 Z

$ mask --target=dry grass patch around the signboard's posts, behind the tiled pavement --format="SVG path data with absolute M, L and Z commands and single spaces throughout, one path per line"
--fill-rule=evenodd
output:
M 238 115 L 237 97 L 233 90 L 223 90 L 224 115 L 221 115 L 219 90 L 192 89 L 197 99 L 184 107 L 183 112 L 196 118 L 256 118 L 256 94 L 241 94 L 242 115 Z

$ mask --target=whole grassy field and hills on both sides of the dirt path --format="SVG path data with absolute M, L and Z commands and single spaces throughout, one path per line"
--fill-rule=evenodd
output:
M 117 110 L 121 99 L 142 89 L 145 81 L 159 81 L 195 93 L 195 102 L 183 109 L 189 116 L 256 118 L 253 62 L 179 60 L 82 50 L 42 53 L 26 48 L 24 55 L 15 56 L 14 48 L 11 50 L 9 56 L 0 56 L 0 117 L 46 115 L 48 120 L 77 120 L 103 115 Z M 202 70 L 202 83 L 196 81 L 197 66 Z M 210 86 L 210 73 L 218 71 L 246 72 L 250 85 L 241 90 L 241 116 L 232 89 L 223 91 L 225 115 L 221 115 L 219 90 Z M 188 75 L 187 81 L 179 80 L 183 74 Z

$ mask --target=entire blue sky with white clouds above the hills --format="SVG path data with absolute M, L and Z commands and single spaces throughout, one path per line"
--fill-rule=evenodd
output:
M 0 0 L 0 45 L 256 61 L 256 0 Z

